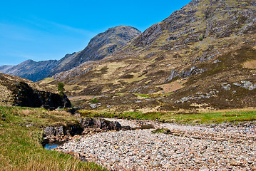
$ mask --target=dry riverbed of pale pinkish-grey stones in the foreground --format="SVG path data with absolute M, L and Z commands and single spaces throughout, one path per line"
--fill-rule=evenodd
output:
M 115 120 L 135 128 L 140 120 Z M 76 136 L 56 150 L 96 162 L 108 170 L 256 170 L 256 125 L 178 125 Z

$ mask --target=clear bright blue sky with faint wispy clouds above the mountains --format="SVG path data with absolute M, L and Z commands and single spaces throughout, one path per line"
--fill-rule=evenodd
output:
M 83 50 L 113 26 L 145 31 L 188 4 L 183 1 L 1 1 L 0 66 L 60 59 Z

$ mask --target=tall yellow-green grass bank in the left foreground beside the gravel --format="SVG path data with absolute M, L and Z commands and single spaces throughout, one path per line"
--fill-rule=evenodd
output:
M 104 170 L 42 147 L 43 125 L 71 122 L 76 118 L 63 111 L 0 107 L 0 170 Z

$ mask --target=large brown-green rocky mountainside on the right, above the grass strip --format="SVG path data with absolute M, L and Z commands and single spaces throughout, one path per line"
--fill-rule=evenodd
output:
M 91 109 L 247 108 L 256 96 L 256 2 L 193 0 L 103 58 L 57 73 Z M 86 98 L 84 98 L 86 97 Z

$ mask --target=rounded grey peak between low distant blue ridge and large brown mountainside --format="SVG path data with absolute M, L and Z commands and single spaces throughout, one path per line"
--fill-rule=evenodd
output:
M 131 26 L 108 28 L 107 31 L 99 33 L 97 36 L 93 37 L 83 51 L 62 58 L 58 66 L 56 66 L 50 73 L 50 76 L 61 71 L 68 71 L 86 61 L 101 60 L 131 41 L 133 38 L 139 36 L 140 33 L 141 32 L 138 29 Z

